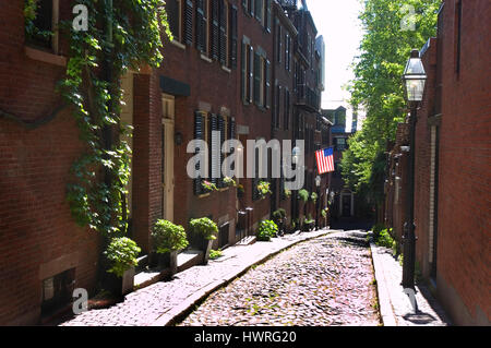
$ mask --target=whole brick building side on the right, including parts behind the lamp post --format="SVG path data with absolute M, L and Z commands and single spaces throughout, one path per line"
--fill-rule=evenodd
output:
M 420 51 L 428 81 L 416 128 L 417 268 L 458 325 L 490 325 L 491 317 L 490 13 L 488 1 L 443 1 L 438 36 Z M 406 157 L 400 144 L 392 163 L 398 157 Z M 399 166 L 394 177 L 404 181 Z M 400 200 L 396 192 L 387 201 Z M 397 231 L 402 208 L 387 216 Z

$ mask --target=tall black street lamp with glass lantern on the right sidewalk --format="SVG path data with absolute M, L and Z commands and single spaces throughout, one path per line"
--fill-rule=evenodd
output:
M 406 97 L 409 103 L 410 115 L 409 123 L 409 164 L 407 166 L 408 194 L 407 194 L 407 221 L 404 224 L 403 236 L 403 288 L 415 289 L 415 255 L 416 255 L 416 236 L 415 236 L 415 137 L 417 109 L 422 100 L 427 73 L 419 57 L 419 51 L 414 49 L 404 70 L 403 80 L 406 86 Z

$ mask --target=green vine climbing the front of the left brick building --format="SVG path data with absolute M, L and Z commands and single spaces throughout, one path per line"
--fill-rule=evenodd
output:
M 70 59 L 58 89 L 73 107 L 86 144 L 71 168 L 67 197 L 76 223 L 106 238 L 122 236 L 128 227 L 131 149 L 121 135 L 131 135 L 131 127 L 120 122 L 120 79 L 129 69 L 158 67 L 160 35 L 171 37 L 164 1 L 115 2 L 77 1 L 88 10 L 86 32 L 75 31 L 71 21 L 60 24 L 69 33 Z

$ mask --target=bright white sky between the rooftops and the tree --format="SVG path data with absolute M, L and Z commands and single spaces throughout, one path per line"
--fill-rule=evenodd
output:
M 301 1 L 298 1 L 301 4 Z M 307 7 L 325 44 L 325 91 L 322 108 L 337 108 L 349 98 L 343 86 L 354 79 L 350 64 L 359 55 L 362 29 L 360 0 L 307 0 Z M 348 120 L 347 120 L 348 121 Z

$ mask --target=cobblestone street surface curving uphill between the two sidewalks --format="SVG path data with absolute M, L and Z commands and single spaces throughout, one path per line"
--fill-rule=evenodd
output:
M 379 325 L 364 236 L 297 244 L 211 295 L 179 325 Z

